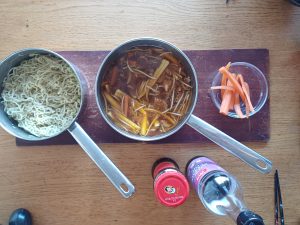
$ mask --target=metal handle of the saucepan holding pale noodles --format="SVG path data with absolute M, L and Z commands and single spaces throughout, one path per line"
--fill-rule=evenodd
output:
M 133 195 L 135 191 L 133 184 L 102 152 L 78 123 L 74 122 L 68 131 L 123 197 L 129 198 Z

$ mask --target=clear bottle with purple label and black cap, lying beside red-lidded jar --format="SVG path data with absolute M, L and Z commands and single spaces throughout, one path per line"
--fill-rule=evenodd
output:
M 186 175 L 201 202 L 210 212 L 229 216 L 238 225 L 264 225 L 263 219 L 247 209 L 239 182 L 206 157 L 187 164 Z

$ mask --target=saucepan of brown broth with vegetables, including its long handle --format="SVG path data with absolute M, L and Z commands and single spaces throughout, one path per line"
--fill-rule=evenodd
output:
M 139 38 L 118 46 L 101 64 L 95 89 L 103 118 L 128 138 L 160 140 L 188 124 L 261 173 L 272 169 L 268 159 L 192 115 L 196 71 L 188 57 L 166 41 Z

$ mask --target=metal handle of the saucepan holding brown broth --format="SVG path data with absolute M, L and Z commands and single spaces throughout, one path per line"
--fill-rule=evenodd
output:
M 270 160 L 208 124 L 204 120 L 191 115 L 187 124 L 259 172 L 264 174 L 271 172 L 272 162 Z

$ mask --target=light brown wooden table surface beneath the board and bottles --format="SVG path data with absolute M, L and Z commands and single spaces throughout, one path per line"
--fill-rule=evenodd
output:
M 286 224 L 300 223 L 300 8 L 288 1 L 0 1 L 0 59 L 20 48 L 109 50 L 153 36 L 181 49 L 270 50 L 271 139 L 246 143 L 278 168 Z M 16 147 L 0 129 L 0 224 L 19 207 L 34 224 L 233 224 L 207 212 L 192 191 L 170 209 L 155 201 L 150 169 L 162 156 L 181 168 L 206 155 L 233 173 L 248 207 L 273 223 L 273 174 L 262 175 L 212 143 L 103 144 L 132 180 L 124 199 L 77 145 Z

